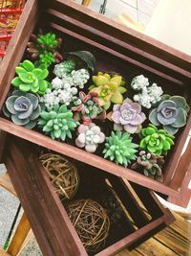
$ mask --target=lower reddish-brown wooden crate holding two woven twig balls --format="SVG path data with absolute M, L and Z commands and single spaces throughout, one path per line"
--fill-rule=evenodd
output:
M 36 148 L 32 143 L 11 136 L 4 159 L 43 255 L 88 255 L 39 161 Z M 124 247 L 132 248 L 174 221 L 170 211 L 148 189 L 138 184 L 130 185 L 116 175 L 78 161 L 75 165 L 80 185 L 74 199 L 92 198 L 102 204 L 105 196 L 107 200 L 115 191 L 125 209 L 121 208 L 117 223 L 111 222 L 105 247 L 96 253 L 97 256 L 114 255 Z M 110 182 L 112 189 L 105 180 Z

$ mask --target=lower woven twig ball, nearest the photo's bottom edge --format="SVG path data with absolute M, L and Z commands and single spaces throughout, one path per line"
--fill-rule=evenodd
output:
M 102 206 L 92 199 L 80 199 L 70 202 L 66 210 L 86 250 L 89 253 L 99 250 L 105 244 L 110 228 Z

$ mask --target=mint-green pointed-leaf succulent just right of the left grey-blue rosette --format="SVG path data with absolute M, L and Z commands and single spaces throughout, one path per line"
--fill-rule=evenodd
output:
M 50 134 L 52 139 L 65 141 L 66 137 L 72 138 L 72 132 L 79 123 L 74 120 L 73 112 L 66 105 L 54 105 L 42 111 L 38 121 L 38 126 Z

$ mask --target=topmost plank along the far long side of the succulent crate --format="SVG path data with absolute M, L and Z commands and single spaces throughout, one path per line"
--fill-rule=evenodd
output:
M 153 56 L 163 58 L 180 68 L 191 71 L 191 59 L 188 55 L 169 47 L 150 36 L 143 35 L 137 31 L 120 25 L 112 19 L 109 19 L 99 13 L 88 10 L 79 6 L 71 0 L 49 0 L 44 1 L 50 8 L 57 11 L 65 11 L 74 19 L 86 24 L 91 24 L 94 29 L 104 31 L 109 35 L 117 37 L 121 41 L 128 41 L 132 45 L 142 50 L 142 54 L 150 53 Z

